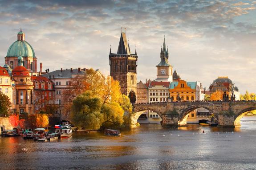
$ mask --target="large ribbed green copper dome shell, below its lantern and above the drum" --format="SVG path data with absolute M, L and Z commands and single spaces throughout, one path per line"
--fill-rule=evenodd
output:
M 20 33 L 20 32 L 19 32 Z M 26 41 L 15 41 L 9 47 L 7 57 L 13 56 L 36 57 L 33 47 Z

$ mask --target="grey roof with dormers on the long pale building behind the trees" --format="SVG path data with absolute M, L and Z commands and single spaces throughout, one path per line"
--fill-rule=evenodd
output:
M 73 69 L 73 71 L 71 72 L 70 69 L 66 69 L 66 70 L 55 70 L 49 73 L 46 73 L 45 75 L 42 75 L 43 77 L 47 77 L 48 79 L 63 79 L 63 78 L 72 78 L 72 76 L 76 76 L 76 75 L 84 75 L 85 71 L 81 70 L 80 72 L 78 72 L 77 69 Z M 51 77 L 50 77 L 51 76 Z M 54 76 L 54 78 L 53 78 Z

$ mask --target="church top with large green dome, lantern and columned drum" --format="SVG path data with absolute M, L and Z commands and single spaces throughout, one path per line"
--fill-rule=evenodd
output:
M 17 41 L 12 43 L 9 47 L 5 57 L 5 64 L 8 64 L 11 69 L 18 66 L 18 56 L 22 56 L 22 65 L 30 72 L 37 73 L 37 57 L 33 47 L 25 41 L 25 33 L 20 32 L 17 34 Z

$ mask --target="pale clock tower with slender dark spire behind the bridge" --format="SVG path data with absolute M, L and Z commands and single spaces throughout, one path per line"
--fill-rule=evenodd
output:
M 169 52 L 168 47 L 165 45 L 165 38 L 163 39 L 163 49 L 161 47 L 160 53 L 161 61 L 156 65 L 156 81 L 158 82 L 171 82 L 172 81 L 172 66 L 168 63 Z

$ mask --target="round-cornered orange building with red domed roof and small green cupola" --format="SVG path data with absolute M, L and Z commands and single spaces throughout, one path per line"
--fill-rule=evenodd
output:
M 23 66 L 22 56 L 17 58 L 17 67 L 12 70 L 12 77 L 15 81 L 13 93 L 13 109 L 20 114 L 33 113 L 33 82 L 29 71 Z

